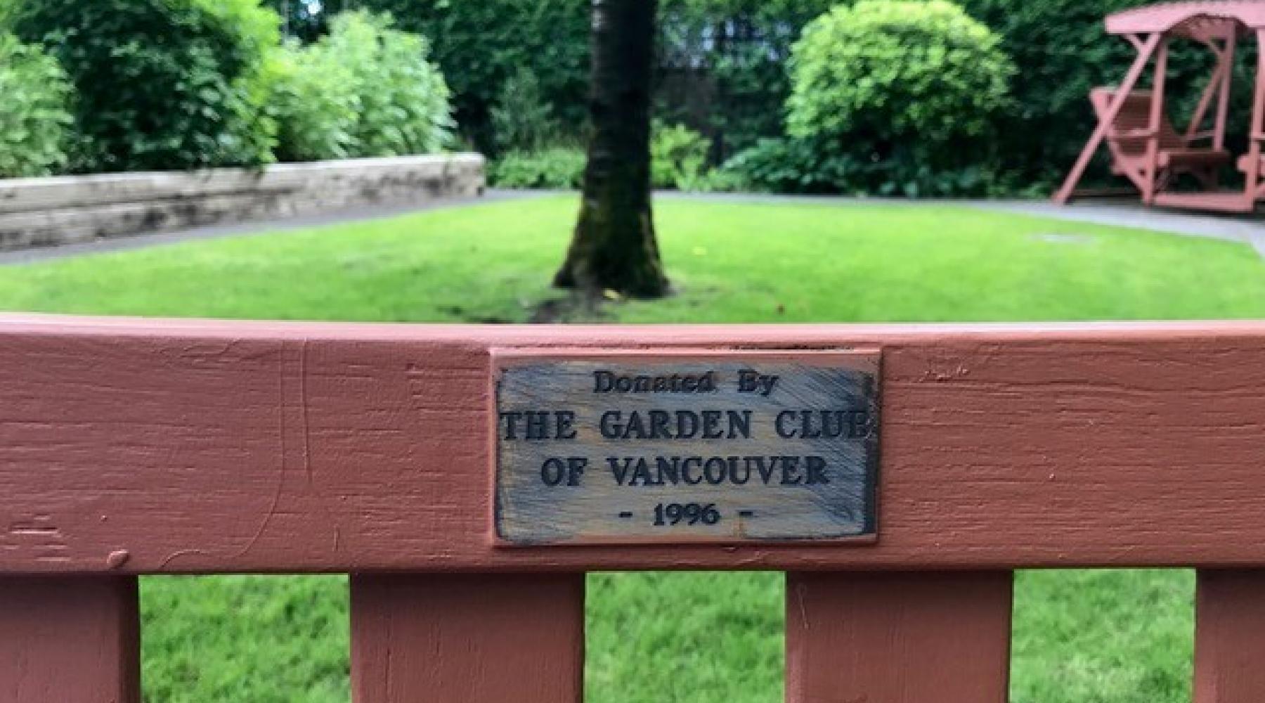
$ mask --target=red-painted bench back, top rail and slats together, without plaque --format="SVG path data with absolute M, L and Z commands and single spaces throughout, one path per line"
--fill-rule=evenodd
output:
M 493 349 L 878 349 L 873 544 L 498 546 Z M 0 320 L 0 702 L 135 703 L 137 575 L 352 574 L 358 703 L 582 697 L 583 574 L 787 577 L 796 703 L 1007 697 L 1017 568 L 1194 566 L 1265 700 L 1265 324 Z

